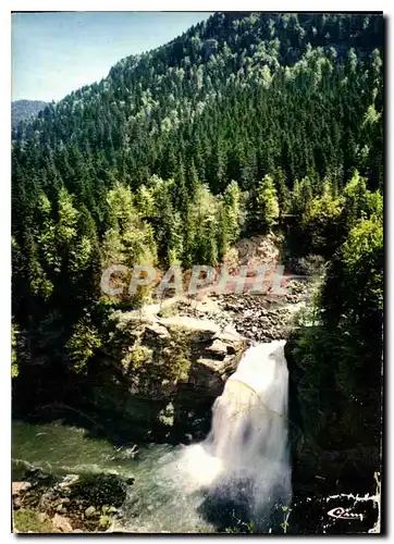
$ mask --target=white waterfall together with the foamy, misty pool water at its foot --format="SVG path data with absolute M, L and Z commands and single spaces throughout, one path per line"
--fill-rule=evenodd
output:
M 159 496 L 165 489 L 165 496 L 160 507 L 150 503 L 155 517 L 139 504 L 138 527 L 128 529 L 193 532 L 248 521 L 261 532 L 279 527 L 278 507 L 291 495 L 284 344 L 258 344 L 245 353 L 213 405 L 208 437 L 161 459 L 149 493 Z

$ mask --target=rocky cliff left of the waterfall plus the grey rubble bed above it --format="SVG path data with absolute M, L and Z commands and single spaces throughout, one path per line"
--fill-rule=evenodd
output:
M 248 344 L 286 337 L 292 302 L 309 293 L 305 282 L 287 287 L 282 306 L 251 294 L 209 294 L 197 304 L 167 301 L 165 311 L 152 305 L 114 312 L 100 363 L 90 370 L 95 409 L 111 415 L 111 426 L 123 421 L 128 435 L 132 426 L 135 441 L 204 437 L 213 401 Z

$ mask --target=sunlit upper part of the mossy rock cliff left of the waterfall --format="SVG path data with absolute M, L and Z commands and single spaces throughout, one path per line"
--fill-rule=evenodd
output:
M 171 397 L 181 385 L 189 385 L 190 392 L 195 387 L 216 397 L 246 346 L 236 332 L 221 333 L 218 327 L 189 329 L 182 320 L 165 326 L 149 319 L 115 317 L 106 355 L 119 364 L 135 395 L 161 399 Z

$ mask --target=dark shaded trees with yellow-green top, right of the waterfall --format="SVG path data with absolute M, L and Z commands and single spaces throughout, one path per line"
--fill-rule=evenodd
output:
M 303 424 L 323 448 L 379 448 L 383 224 L 359 219 L 333 256 L 292 357 L 303 370 Z

